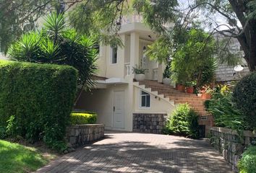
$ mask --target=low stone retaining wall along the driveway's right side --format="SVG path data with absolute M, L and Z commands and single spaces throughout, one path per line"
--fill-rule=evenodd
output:
M 229 128 L 210 128 L 210 136 L 210 143 L 231 164 L 234 172 L 239 172 L 237 164 L 244 149 L 256 141 L 256 135 L 251 131 L 244 131 L 242 138 L 239 138 L 236 131 Z

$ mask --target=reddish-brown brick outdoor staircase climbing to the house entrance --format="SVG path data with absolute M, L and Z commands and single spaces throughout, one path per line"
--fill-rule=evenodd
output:
M 161 84 L 157 81 L 140 81 L 140 85 L 145 85 L 145 88 L 150 88 L 153 92 L 158 92 L 158 94 L 163 94 L 165 98 L 170 101 L 174 101 L 175 105 L 181 103 L 188 103 L 195 111 L 201 116 L 207 116 L 209 113 L 205 110 L 204 102 L 205 99 L 202 97 L 197 97 L 196 94 L 188 94 L 185 92 L 179 92 L 174 89 L 173 86 Z

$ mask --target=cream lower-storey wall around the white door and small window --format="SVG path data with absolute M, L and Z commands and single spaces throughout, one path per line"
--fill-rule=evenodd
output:
M 124 128 L 114 128 L 114 92 L 119 91 L 124 91 Z M 133 113 L 169 114 L 174 110 L 174 105 L 153 94 L 150 94 L 150 101 L 150 108 L 140 108 L 139 88 L 132 84 L 113 84 L 106 89 L 93 89 L 83 93 L 75 108 L 97 112 L 97 123 L 103 123 L 106 129 L 132 131 Z

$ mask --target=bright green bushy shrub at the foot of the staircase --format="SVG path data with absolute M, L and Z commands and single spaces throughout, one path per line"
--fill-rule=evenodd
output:
M 164 133 L 199 138 L 198 115 L 189 105 L 181 104 L 168 117 Z

